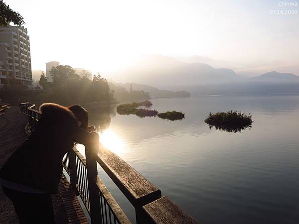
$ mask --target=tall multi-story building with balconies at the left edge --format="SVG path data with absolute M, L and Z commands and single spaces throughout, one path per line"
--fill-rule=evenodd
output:
M 0 87 L 5 84 L 32 87 L 29 36 L 23 26 L 0 26 Z

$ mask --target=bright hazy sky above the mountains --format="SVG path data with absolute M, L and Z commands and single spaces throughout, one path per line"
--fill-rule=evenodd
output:
M 199 55 L 237 70 L 299 66 L 299 14 L 270 13 L 299 6 L 279 2 L 6 0 L 26 22 L 33 70 L 59 61 L 104 73 L 143 54 Z

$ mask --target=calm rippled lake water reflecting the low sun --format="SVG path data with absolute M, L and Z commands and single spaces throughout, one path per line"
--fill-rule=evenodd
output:
M 201 224 L 299 223 L 299 96 L 206 96 L 152 99 L 159 112 L 185 119 L 89 111 L 102 143 Z M 252 128 L 209 128 L 209 112 L 252 114 Z M 100 171 L 123 210 L 135 213 Z

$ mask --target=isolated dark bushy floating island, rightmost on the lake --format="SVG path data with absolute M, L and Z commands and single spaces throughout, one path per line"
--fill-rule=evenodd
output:
M 251 114 L 245 114 L 237 111 L 211 113 L 204 120 L 209 127 L 214 126 L 216 129 L 227 132 L 241 132 L 247 127 L 251 127 Z

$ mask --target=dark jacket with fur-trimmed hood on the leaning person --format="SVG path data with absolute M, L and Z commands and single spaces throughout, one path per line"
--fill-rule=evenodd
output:
M 65 153 L 74 142 L 85 144 L 96 137 L 80 128 L 77 118 L 65 107 L 43 104 L 39 110 L 42 114 L 36 129 L 4 163 L 0 177 L 55 194 Z

